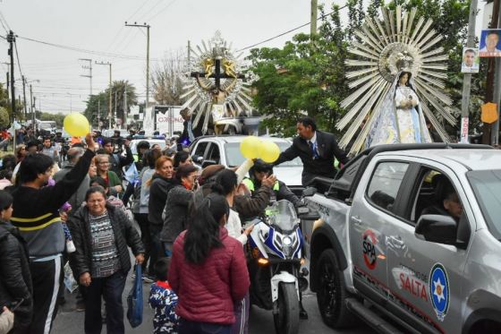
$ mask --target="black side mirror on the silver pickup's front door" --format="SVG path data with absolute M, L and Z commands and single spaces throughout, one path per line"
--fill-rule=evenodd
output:
M 431 243 L 461 246 L 457 242 L 457 223 L 450 216 L 422 215 L 416 224 L 414 235 Z

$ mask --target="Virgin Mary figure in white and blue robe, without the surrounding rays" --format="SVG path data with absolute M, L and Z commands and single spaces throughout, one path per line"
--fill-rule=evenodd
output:
M 401 72 L 386 94 L 366 146 L 412 142 L 431 142 L 431 137 L 412 85 L 412 73 Z

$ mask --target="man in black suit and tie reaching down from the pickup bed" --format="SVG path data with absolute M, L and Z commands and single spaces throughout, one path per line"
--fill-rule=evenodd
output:
M 284 150 L 274 163 L 279 165 L 293 158 L 301 158 L 302 185 L 308 185 L 315 176 L 335 176 L 334 158 L 342 164 L 348 162 L 344 150 L 341 150 L 335 141 L 334 134 L 317 130 L 317 124 L 311 117 L 303 117 L 297 123 L 298 137 L 294 138 L 293 145 Z

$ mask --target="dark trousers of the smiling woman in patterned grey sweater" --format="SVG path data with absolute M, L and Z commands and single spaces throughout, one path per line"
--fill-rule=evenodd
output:
M 126 276 L 121 271 L 107 278 L 92 278 L 85 289 L 85 333 L 100 333 L 103 327 L 101 318 L 101 295 L 106 304 L 106 333 L 123 334 L 122 295 Z

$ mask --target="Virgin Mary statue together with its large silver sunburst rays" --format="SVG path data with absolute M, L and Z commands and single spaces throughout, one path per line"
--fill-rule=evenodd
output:
M 351 94 L 336 123 L 344 132 L 339 145 L 354 155 L 380 144 L 431 142 L 429 127 L 450 141 L 444 124 L 455 126 L 458 110 L 445 91 L 448 55 L 433 21 L 415 8 L 383 6 L 354 35 L 344 62 Z

